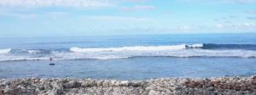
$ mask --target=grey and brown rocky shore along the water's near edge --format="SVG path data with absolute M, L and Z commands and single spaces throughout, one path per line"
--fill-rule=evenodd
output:
M 146 81 L 91 79 L 0 79 L 0 95 L 255 95 L 256 75 Z

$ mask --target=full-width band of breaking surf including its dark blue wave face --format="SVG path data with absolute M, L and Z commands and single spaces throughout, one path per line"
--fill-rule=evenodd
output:
M 125 59 L 134 57 L 236 57 L 256 58 L 256 45 L 181 44 L 120 48 L 0 49 L 0 61 L 62 59 Z

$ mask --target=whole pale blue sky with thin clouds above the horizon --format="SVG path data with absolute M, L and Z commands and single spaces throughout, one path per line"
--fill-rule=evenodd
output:
M 0 37 L 256 32 L 256 0 L 0 0 Z

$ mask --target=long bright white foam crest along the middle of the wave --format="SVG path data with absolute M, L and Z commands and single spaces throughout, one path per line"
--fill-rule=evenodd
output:
M 120 52 L 120 51 L 165 51 L 165 50 L 182 50 L 186 45 L 174 45 L 174 46 L 135 46 L 135 47 L 122 47 L 122 48 L 70 48 L 69 50 L 75 53 L 84 52 Z

